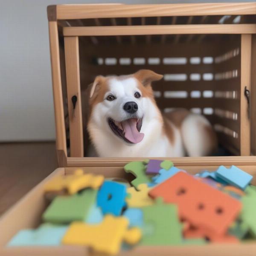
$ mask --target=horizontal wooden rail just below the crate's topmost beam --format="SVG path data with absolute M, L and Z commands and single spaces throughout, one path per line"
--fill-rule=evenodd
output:
M 255 24 L 64 27 L 64 36 L 256 34 Z

